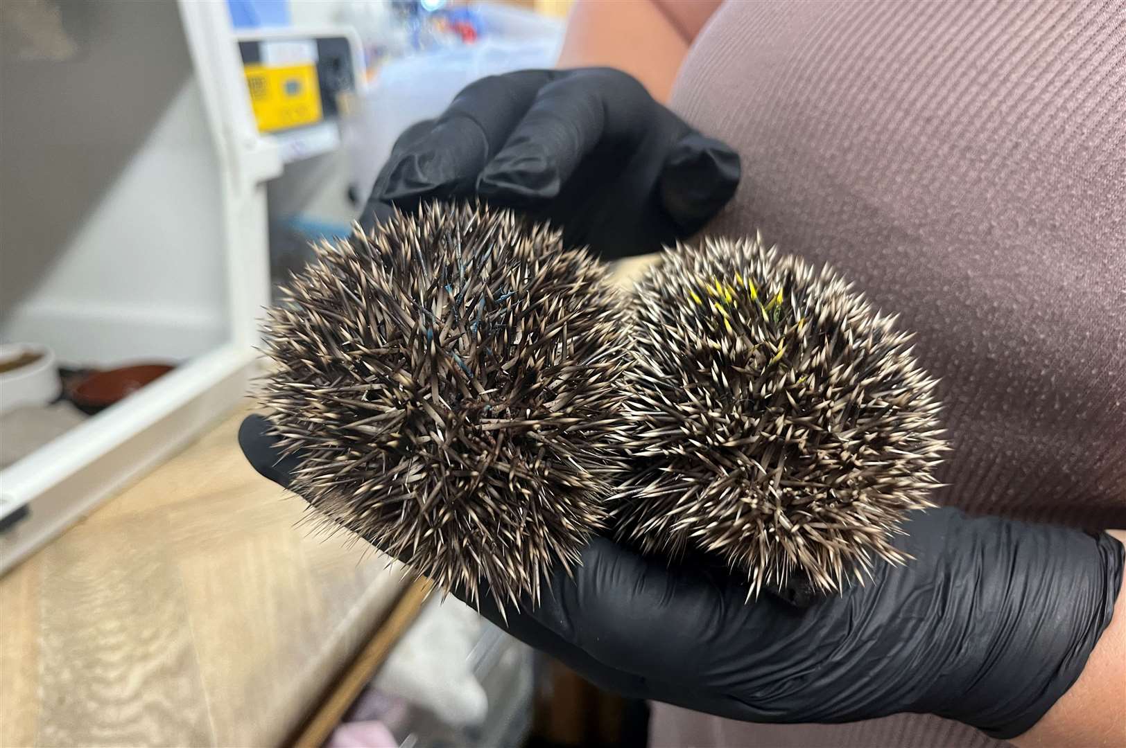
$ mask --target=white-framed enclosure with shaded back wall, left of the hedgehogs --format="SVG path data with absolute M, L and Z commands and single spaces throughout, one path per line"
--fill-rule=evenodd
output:
M 79 6 L 70 58 L 0 52 L 0 339 L 178 366 L 0 472 L 0 523 L 23 515 L 0 573 L 244 395 L 269 300 L 265 182 L 300 147 L 259 135 L 225 3 Z

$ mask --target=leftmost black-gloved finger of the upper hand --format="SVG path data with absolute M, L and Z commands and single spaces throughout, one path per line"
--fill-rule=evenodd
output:
M 388 160 L 376 180 L 376 199 L 413 207 L 423 197 L 464 197 L 472 192 L 489 159 L 503 145 L 555 71 L 492 75 L 463 89 L 434 120 Z

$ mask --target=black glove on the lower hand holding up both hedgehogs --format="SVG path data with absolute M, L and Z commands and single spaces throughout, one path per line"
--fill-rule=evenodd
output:
M 283 486 L 267 422 L 239 441 Z M 596 684 L 753 722 L 847 722 L 896 712 L 955 719 L 997 738 L 1029 729 L 1075 682 L 1110 622 L 1123 547 L 1105 533 L 954 508 L 917 512 L 865 586 L 797 609 L 697 566 L 668 568 L 596 538 L 539 607 L 503 620 L 516 638 Z

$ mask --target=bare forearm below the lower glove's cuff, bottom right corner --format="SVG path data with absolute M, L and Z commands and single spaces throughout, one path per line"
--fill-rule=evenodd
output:
M 1126 544 L 1126 530 L 1109 534 Z M 1013 738 L 1020 748 L 1126 746 L 1126 594 L 1118 591 L 1114 618 L 1067 693 L 1036 726 Z

